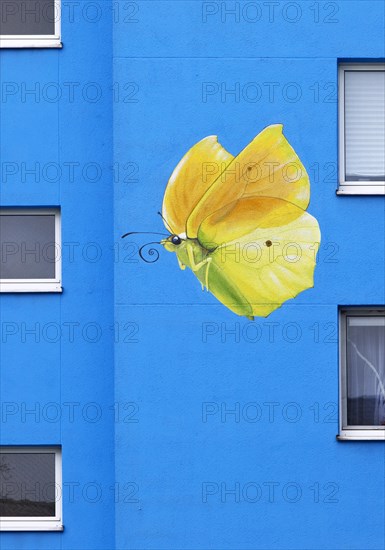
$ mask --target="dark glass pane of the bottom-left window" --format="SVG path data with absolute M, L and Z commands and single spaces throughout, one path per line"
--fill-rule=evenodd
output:
M 0 516 L 55 517 L 55 454 L 0 452 Z

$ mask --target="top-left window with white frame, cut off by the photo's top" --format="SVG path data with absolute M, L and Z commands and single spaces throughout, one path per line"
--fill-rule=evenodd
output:
M 0 47 L 60 48 L 60 0 L 0 0 Z

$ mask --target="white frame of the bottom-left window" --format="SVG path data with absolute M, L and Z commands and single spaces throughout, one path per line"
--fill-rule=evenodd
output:
M 55 454 L 55 517 L 0 517 L 0 531 L 63 531 L 63 491 L 62 491 L 62 452 L 61 447 L 22 447 L 0 446 L 2 453 Z

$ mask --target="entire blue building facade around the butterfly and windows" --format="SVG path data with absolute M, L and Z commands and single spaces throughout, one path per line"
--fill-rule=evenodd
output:
M 384 197 L 336 194 L 338 70 L 383 62 L 383 21 L 376 0 L 65 3 L 62 49 L 0 50 L 1 207 L 60 208 L 63 272 L 0 296 L 1 445 L 61 448 L 64 524 L 1 548 L 384 547 L 384 443 L 336 439 L 340 308 L 385 303 Z M 275 123 L 322 241 L 314 288 L 250 321 L 120 236 L 165 231 L 194 143 L 236 155 Z

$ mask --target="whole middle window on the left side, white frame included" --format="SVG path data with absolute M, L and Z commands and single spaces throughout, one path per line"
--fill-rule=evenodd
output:
M 61 292 L 60 211 L 0 208 L 0 292 Z

